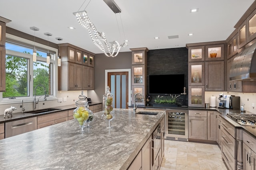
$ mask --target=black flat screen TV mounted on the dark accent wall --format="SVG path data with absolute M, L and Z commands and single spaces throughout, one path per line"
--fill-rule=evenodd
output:
M 158 74 L 148 76 L 149 94 L 181 94 L 184 92 L 184 74 Z

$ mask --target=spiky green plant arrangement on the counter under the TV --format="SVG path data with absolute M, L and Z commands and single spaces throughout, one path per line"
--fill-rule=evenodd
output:
M 158 95 L 155 99 L 154 99 L 154 104 L 153 106 L 176 106 L 177 107 L 177 101 L 176 99 L 179 97 L 178 96 L 173 96 L 173 95 L 168 95 L 168 96 L 160 96 Z

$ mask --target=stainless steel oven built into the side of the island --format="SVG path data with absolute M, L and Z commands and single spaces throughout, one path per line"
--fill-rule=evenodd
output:
M 161 127 L 158 125 L 152 134 L 152 166 L 158 162 L 158 154 L 161 148 L 161 138 L 160 138 Z

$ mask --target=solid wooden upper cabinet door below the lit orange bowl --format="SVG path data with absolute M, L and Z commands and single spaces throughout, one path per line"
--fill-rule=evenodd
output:
M 205 62 L 205 91 L 224 91 L 224 61 Z

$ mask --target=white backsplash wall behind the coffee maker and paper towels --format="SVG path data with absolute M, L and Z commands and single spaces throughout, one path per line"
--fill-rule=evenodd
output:
M 256 94 L 254 93 L 240 93 L 240 92 L 223 92 L 224 95 L 240 96 L 240 104 L 245 104 L 246 110 L 256 114 L 256 107 L 252 107 L 252 103 L 256 106 Z M 205 103 L 210 103 L 210 96 L 216 96 L 218 99 L 220 92 L 205 92 Z M 217 105 L 217 102 L 216 102 Z

